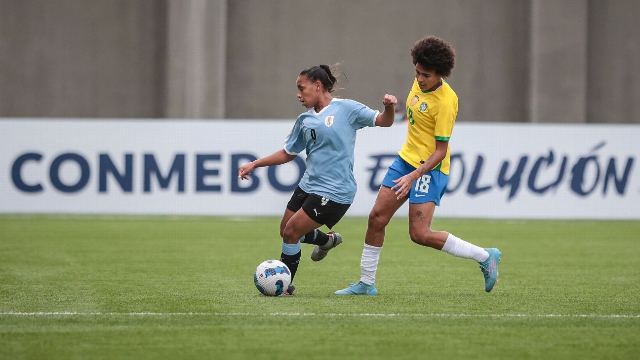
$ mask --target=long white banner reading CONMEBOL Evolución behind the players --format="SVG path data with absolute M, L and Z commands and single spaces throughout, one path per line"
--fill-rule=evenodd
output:
M 293 121 L 0 120 L 0 212 L 282 215 L 305 166 L 237 167 L 282 148 Z M 358 131 L 367 215 L 406 123 Z M 437 216 L 639 219 L 640 126 L 459 122 Z M 406 215 L 407 205 L 399 210 Z

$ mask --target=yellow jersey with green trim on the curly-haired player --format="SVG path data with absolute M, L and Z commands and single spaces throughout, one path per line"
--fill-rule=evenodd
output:
M 436 139 L 449 141 L 453 124 L 458 115 L 458 95 L 444 79 L 442 86 L 434 91 L 422 91 L 418 81 L 413 81 L 406 98 L 407 125 L 406 142 L 398 152 L 404 161 L 419 168 L 436 150 Z M 451 148 L 442 162 L 431 170 L 439 169 L 449 175 Z

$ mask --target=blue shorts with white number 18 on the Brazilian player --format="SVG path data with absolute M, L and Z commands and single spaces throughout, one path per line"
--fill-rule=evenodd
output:
M 397 180 L 414 171 L 415 168 L 398 155 L 394 163 L 389 166 L 387 175 L 382 179 L 382 185 L 393 187 Z M 433 201 L 440 206 L 440 199 L 447 191 L 449 175 L 444 175 L 440 170 L 431 170 L 415 181 L 409 192 L 409 203 L 424 204 Z

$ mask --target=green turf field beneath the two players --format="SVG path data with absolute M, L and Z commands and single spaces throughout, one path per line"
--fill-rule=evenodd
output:
M 360 276 L 366 219 L 303 258 L 293 297 L 264 297 L 279 218 L 0 215 L 0 359 L 630 359 L 640 354 L 639 221 L 435 219 L 499 247 L 472 260 L 417 246 L 394 219 L 377 297 Z

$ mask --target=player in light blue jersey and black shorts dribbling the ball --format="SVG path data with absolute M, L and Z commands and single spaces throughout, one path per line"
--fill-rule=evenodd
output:
M 285 291 L 288 295 L 295 290 L 293 279 L 300 263 L 301 242 L 316 246 L 311 253 L 316 262 L 342 242 L 339 233 L 323 233 L 317 228 L 326 225 L 332 229 L 353 203 L 356 131 L 363 127 L 390 127 L 394 122 L 397 99 L 393 95 L 383 97 L 382 113 L 353 100 L 332 97 L 337 66 L 318 65 L 300 73 L 296 80 L 298 100 L 310 110 L 298 116 L 282 150 L 238 169 L 238 177 L 248 179 L 255 168 L 284 164 L 303 150 L 307 153 L 307 171 L 280 222 L 280 260 L 291 271 L 291 285 Z

